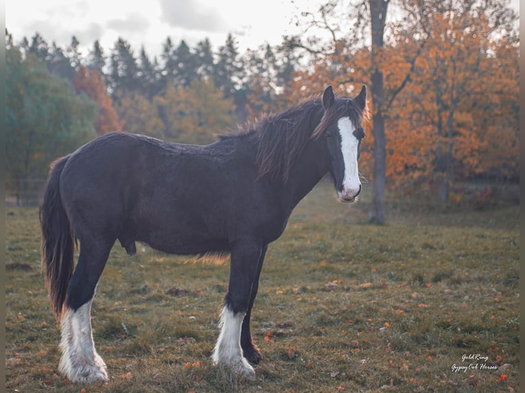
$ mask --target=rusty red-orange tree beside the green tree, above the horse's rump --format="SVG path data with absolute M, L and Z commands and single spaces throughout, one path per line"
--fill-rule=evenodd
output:
M 73 85 L 78 93 L 84 92 L 99 105 L 99 114 L 95 121 L 98 135 L 122 131 L 119 115 L 114 110 L 112 99 L 108 96 L 106 84 L 101 79 L 99 71 L 80 66 L 73 77 Z

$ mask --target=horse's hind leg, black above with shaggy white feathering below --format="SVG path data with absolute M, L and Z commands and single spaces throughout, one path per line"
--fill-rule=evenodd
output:
M 60 372 L 73 382 L 108 381 L 106 364 L 95 350 L 90 312 L 95 289 L 112 244 L 80 242 L 77 267 L 69 282 L 62 318 Z

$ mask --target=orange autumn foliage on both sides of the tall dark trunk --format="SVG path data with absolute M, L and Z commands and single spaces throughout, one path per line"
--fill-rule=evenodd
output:
M 443 10 L 437 0 L 405 6 L 421 20 L 411 28 L 394 25 L 377 58 L 384 76 L 387 186 L 411 190 L 478 175 L 516 179 L 519 43 L 489 20 L 490 9 L 453 1 Z M 293 103 L 331 84 L 352 96 L 371 84 L 371 73 L 367 47 L 343 46 L 296 72 L 282 95 Z M 376 110 L 372 97 L 369 107 Z M 359 170 L 373 181 L 371 120 L 365 128 Z

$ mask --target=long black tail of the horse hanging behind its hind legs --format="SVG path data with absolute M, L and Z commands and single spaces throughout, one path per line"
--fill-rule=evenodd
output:
M 67 286 L 73 275 L 75 253 L 75 238 L 59 190 L 60 174 L 68 159 L 69 155 L 51 164 L 40 205 L 42 270 L 45 269 L 45 285 L 49 290 L 51 308 L 58 323 L 62 320 Z

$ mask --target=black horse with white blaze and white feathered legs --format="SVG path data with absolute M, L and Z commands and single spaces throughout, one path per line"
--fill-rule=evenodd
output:
M 366 116 L 364 85 L 354 98 L 335 97 L 328 86 L 322 98 L 265 116 L 212 144 L 114 132 L 53 162 L 39 217 L 42 270 L 61 333 L 60 373 L 74 382 L 108 381 L 90 312 L 119 240 L 130 255 L 136 242 L 178 255 L 230 255 L 212 362 L 254 379 L 252 364 L 262 355 L 249 321 L 267 247 L 328 173 L 339 201 L 356 201 Z

